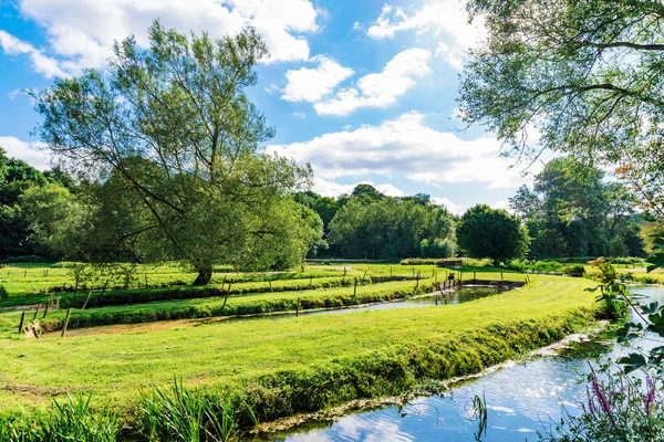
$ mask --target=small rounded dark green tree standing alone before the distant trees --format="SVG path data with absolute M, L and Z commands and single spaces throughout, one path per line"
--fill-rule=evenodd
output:
M 500 261 L 523 257 L 528 252 L 528 231 L 521 220 L 505 210 L 478 204 L 464 213 L 457 228 L 459 248 L 470 257 Z

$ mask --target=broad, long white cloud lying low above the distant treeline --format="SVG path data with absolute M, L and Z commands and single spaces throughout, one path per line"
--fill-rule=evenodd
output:
M 380 126 L 324 134 L 304 143 L 268 146 L 268 151 L 311 162 L 317 177 L 402 175 L 440 187 L 443 183 L 485 183 L 489 189 L 513 188 L 525 178 L 511 160 L 499 156 L 492 137 L 463 140 L 424 125 L 424 115 L 404 114 Z M 535 171 L 535 170 L 530 170 Z

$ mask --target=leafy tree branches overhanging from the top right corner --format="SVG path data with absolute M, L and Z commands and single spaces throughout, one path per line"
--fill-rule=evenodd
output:
M 488 36 L 465 67 L 466 120 L 520 156 L 550 148 L 611 165 L 664 218 L 664 3 L 469 0 L 468 10 Z

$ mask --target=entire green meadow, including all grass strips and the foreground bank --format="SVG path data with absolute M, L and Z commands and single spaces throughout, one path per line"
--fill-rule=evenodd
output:
M 69 286 L 71 277 L 65 269 L 32 264 L 3 271 L 10 272 L 2 283 L 10 296 L 0 302 L 0 417 L 29 422 L 53 399 L 91 393 L 91 412 L 113 410 L 117 433 L 129 439 L 145 436 L 142 417 L 151 386 L 173 394 L 174 379 L 194 397 L 226 403 L 236 434 L 256 421 L 401 394 L 481 371 L 582 329 L 596 314 L 594 294 L 584 291 L 593 283 L 579 277 L 530 275 L 523 288 L 459 305 L 305 315 L 432 292 L 446 271 L 309 265 L 292 273 L 218 272 L 210 286 L 190 287 L 178 282 L 193 281 L 193 274 L 165 266 L 163 273 L 146 269 L 148 284 L 154 282 L 147 290 L 114 288 L 105 295 L 123 304 L 72 308 L 65 337 L 59 332 L 64 307 L 45 319 L 40 313 L 44 330 L 52 333 L 28 339 L 17 333 L 22 312 L 32 319 L 34 309 L 27 306 L 45 304 L 49 287 Z M 466 266 L 463 277 L 474 272 L 484 280 L 525 280 L 485 266 Z M 141 293 L 157 291 L 204 296 L 142 302 Z M 76 294 L 79 301 L 87 295 Z M 104 304 L 98 295 L 96 290 L 91 299 L 97 296 Z M 73 304 L 74 293 L 58 296 L 61 307 Z M 264 313 L 284 315 L 228 320 Z

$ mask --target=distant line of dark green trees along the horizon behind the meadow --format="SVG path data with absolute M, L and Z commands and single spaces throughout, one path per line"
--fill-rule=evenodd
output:
M 133 213 L 118 215 L 112 192 L 100 186 L 58 167 L 41 172 L 0 150 L 0 261 L 72 257 L 63 250 L 82 260 L 86 253 L 96 261 L 141 260 L 116 240 Z M 634 212 L 634 198 L 620 183 L 605 182 L 599 169 L 580 170 L 568 159 L 550 161 L 533 190 L 523 186 L 510 198 L 516 215 L 477 206 L 455 217 L 426 193 L 388 197 L 370 185 L 338 198 L 313 191 L 292 196 L 322 236 L 311 242 L 309 257 L 646 256 L 641 238 L 646 223 Z M 86 246 L 83 231 L 72 232 L 70 223 L 72 217 L 90 217 L 90 207 L 96 208 L 96 221 L 89 236 L 103 241 Z

